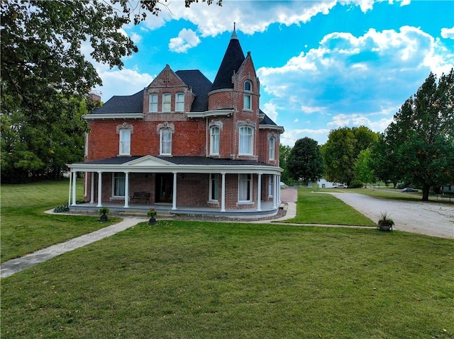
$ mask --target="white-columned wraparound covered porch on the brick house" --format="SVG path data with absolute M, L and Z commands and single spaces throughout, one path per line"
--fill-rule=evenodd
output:
M 68 205 L 72 210 L 109 207 L 111 211 L 120 213 L 145 213 L 153 206 L 158 212 L 166 214 L 238 217 L 270 216 L 278 212 L 280 205 L 282 168 L 258 162 L 199 157 L 160 159 L 154 156 L 118 156 L 68 166 L 71 174 Z M 82 203 L 76 200 L 76 177 L 79 172 L 85 173 L 85 202 Z M 238 176 L 247 176 L 248 181 L 240 182 Z M 119 177 L 121 191 L 115 189 Z M 139 179 L 145 181 L 139 184 Z M 145 185 L 151 186 L 145 189 Z M 239 192 L 240 185 L 247 193 L 246 198 Z M 248 188 L 244 189 L 246 186 Z M 148 193 L 145 199 L 138 201 L 135 195 L 145 193 L 138 192 L 140 190 L 147 190 Z M 162 192 L 165 192 L 165 200 L 162 199 Z M 238 199 L 235 197 L 233 201 L 233 195 Z

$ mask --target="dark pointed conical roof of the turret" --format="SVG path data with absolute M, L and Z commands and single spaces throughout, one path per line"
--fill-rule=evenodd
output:
M 223 88 L 233 88 L 233 71 L 238 71 L 238 69 L 240 69 L 244 59 L 245 57 L 240 46 L 240 41 L 238 38 L 232 36 L 228 43 L 226 54 L 224 54 L 222 59 L 221 66 L 219 67 L 218 74 L 216 74 L 216 78 L 214 79 L 213 86 L 211 86 L 211 91 Z

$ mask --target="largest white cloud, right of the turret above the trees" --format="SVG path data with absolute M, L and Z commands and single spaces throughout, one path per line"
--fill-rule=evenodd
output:
M 328 34 L 318 48 L 282 67 L 262 67 L 258 76 L 269 102 L 288 108 L 280 119 L 289 124 L 313 113 L 309 119 L 325 127 L 365 125 L 382 132 L 430 71 L 441 75 L 451 67 L 452 51 L 421 28 L 403 26 L 361 36 Z M 377 121 L 372 116 L 378 114 Z

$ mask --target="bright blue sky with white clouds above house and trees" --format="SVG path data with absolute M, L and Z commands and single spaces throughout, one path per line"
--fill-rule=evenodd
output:
M 126 26 L 139 52 L 123 69 L 95 64 L 103 101 L 148 86 L 166 64 L 214 81 L 233 23 L 260 79 L 260 108 L 284 126 L 281 143 L 365 125 L 383 132 L 432 71 L 454 67 L 454 1 L 229 1 L 184 8 Z

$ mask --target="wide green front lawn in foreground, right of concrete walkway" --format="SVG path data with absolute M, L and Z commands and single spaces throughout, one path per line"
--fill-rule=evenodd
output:
M 57 190 L 46 185 L 46 192 Z M 25 201 L 31 212 L 54 205 Z M 4 206 L 2 241 L 3 213 Z M 50 234 L 57 225 L 71 229 L 71 218 L 78 220 L 33 215 L 36 234 Z M 41 227 L 43 221 L 53 228 Z M 377 229 L 142 223 L 2 279 L 0 334 L 454 338 L 453 245 Z

